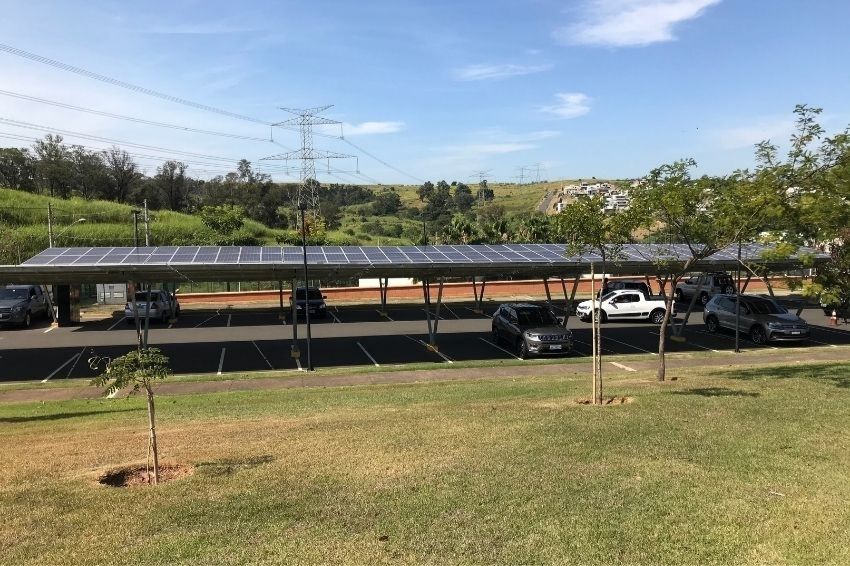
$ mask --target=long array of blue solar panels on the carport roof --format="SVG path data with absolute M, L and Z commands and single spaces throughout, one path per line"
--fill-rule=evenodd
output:
M 600 262 L 599 253 L 566 254 L 566 244 L 500 244 L 438 246 L 307 246 L 310 265 L 453 265 L 453 264 L 560 264 Z M 742 257 L 761 259 L 770 248 L 742 247 Z M 815 253 L 814 250 L 808 250 Z M 712 255 L 709 261 L 734 261 L 737 246 Z M 802 251 L 801 251 L 802 253 Z M 798 254 L 799 255 L 799 254 Z M 684 260 L 691 256 L 684 244 L 628 244 L 609 251 L 617 262 Z M 136 266 L 136 265 L 293 265 L 303 262 L 302 248 L 260 246 L 161 246 L 49 248 L 25 261 L 27 266 Z

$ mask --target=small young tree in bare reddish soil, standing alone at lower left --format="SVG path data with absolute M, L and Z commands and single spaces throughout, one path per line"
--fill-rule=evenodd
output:
M 94 360 L 90 360 L 93 362 Z M 92 384 L 106 386 L 106 393 L 113 394 L 125 387 L 135 393 L 144 389 L 148 404 L 148 457 L 153 456 L 153 483 L 159 483 L 159 448 L 156 442 L 156 407 L 153 383 L 171 375 L 168 356 L 159 348 L 139 348 L 114 360 L 107 360 L 104 372 Z

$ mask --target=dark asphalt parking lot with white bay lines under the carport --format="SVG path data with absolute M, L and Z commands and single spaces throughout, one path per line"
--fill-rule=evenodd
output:
M 440 311 L 439 351 L 430 351 L 425 311 L 417 305 L 391 305 L 387 316 L 371 305 L 329 308 L 325 319 L 312 325 L 313 365 L 316 368 L 452 364 L 472 360 L 518 360 L 490 335 L 490 318 L 476 314 L 472 303 L 443 304 Z M 495 310 L 486 305 L 486 313 Z M 850 325 L 829 326 L 819 309 L 803 313 L 812 325 L 811 339 L 795 344 L 757 346 L 741 336 L 742 349 L 836 347 L 850 344 Z M 571 357 L 591 351 L 590 325 L 570 318 L 574 350 Z M 226 375 L 246 371 L 298 371 L 306 365 L 306 328 L 299 324 L 300 360 L 290 356 L 292 327 L 276 309 L 184 309 L 174 324 L 151 323 L 150 344 L 171 359 L 177 374 Z M 685 342 L 668 341 L 668 352 L 713 352 L 734 349 L 734 334 L 708 333 L 702 313 L 691 315 Z M 603 325 L 603 353 L 654 356 L 658 327 L 648 323 Z M 51 328 L 46 322 L 32 328 L 0 330 L 0 381 L 91 378 L 98 370 L 92 358 L 112 358 L 135 344 L 135 331 L 123 314 L 90 320 L 76 327 Z

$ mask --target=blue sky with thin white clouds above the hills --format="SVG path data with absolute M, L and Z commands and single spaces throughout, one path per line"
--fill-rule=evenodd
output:
M 486 169 L 506 181 L 538 163 L 541 178 L 636 177 L 680 157 L 722 174 L 751 166 L 758 140 L 787 139 L 797 103 L 823 107 L 830 131 L 850 123 L 844 0 L 0 0 L 0 13 L 0 43 L 264 121 L 286 119 L 280 106 L 334 104 L 326 116 L 344 123 L 346 138 L 394 169 L 340 140 L 317 137 L 315 146 L 359 154 L 359 170 L 384 183 L 469 180 Z M 269 133 L 5 52 L 0 77 L 5 92 L 193 128 Z M 245 157 L 287 179 L 282 162 L 258 161 L 284 151 L 269 142 L 8 94 L 0 95 L 0 118 L 163 148 L 127 149 L 191 160 L 189 172 L 199 177 L 229 166 L 178 152 Z M 0 121 L 0 135 L 43 133 Z M 292 132 L 275 139 L 299 143 Z M 24 142 L 0 137 L 0 144 Z M 157 157 L 137 160 L 152 174 Z M 332 166 L 356 167 L 353 160 Z M 323 181 L 356 179 L 328 175 L 324 164 L 317 171 Z

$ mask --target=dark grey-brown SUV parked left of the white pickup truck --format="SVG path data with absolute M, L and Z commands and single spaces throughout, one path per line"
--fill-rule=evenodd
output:
M 520 358 L 566 354 L 573 333 L 547 308 L 530 303 L 506 303 L 493 313 L 493 340 L 513 348 Z

